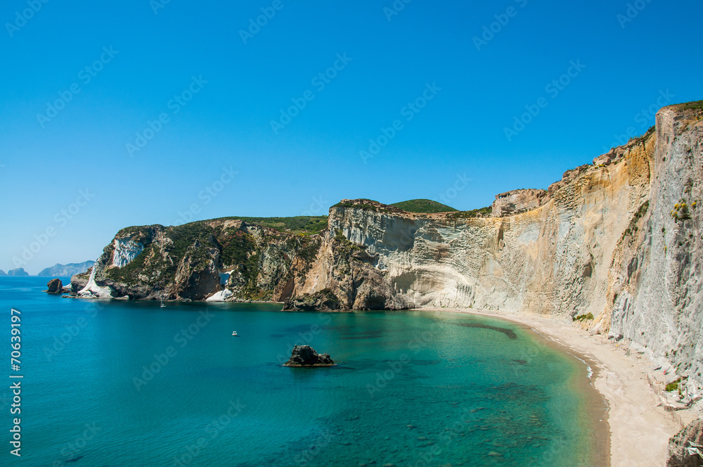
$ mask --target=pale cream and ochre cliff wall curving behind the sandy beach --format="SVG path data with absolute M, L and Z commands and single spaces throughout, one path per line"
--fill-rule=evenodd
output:
M 505 215 L 503 198 L 494 205 L 503 217 L 473 219 L 344 200 L 330 210 L 320 255 L 296 291 L 331 290 L 342 309 L 580 316 L 700 392 L 702 132 L 703 103 L 664 108 L 656 130 L 565 172 L 546 195 L 504 193 L 512 204 L 536 205 L 516 215 Z M 363 251 L 349 267 L 345 240 Z

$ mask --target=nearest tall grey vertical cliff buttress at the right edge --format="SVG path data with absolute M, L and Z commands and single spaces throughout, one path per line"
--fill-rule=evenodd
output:
M 649 203 L 619 241 L 600 316 L 611 335 L 690 376 L 689 388 L 703 380 L 701 107 L 657 114 Z

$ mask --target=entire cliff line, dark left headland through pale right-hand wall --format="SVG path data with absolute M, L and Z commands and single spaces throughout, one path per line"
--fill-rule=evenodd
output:
M 85 281 L 84 294 L 112 297 L 285 300 L 285 309 L 579 316 L 687 376 L 696 393 L 702 119 L 703 102 L 663 108 L 656 129 L 565 172 L 546 193 L 503 193 L 493 217 L 343 200 L 318 236 L 226 219 L 123 229 L 94 280 L 77 277 L 74 287 Z

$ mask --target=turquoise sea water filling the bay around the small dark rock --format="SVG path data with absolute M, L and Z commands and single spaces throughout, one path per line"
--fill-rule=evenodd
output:
M 20 465 L 597 465 L 586 366 L 515 324 L 161 309 L 62 299 L 45 285 L 0 278 L 8 360 L 10 308 L 22 312 Z M 296 343 L 338 365 L 281 366 Z M 8 396 L 0 390 L 7 429 Z M 4 444 L 0 465 L 18 465 Z

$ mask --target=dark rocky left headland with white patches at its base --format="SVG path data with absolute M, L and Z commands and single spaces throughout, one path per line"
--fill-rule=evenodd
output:
M 283 300 L 309 269 L 318 236 L 281 233 L 241 220 L 122 229 L 77 295 L 137 300 Z

